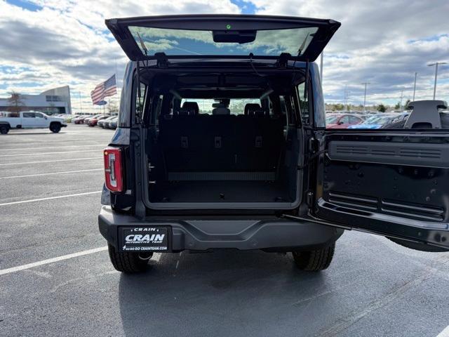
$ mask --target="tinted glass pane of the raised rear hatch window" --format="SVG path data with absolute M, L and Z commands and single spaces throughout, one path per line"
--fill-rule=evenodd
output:
M 303 52 L 307 49 L 318 28 L 258 30 L 255 39 L 246 43 L 215 42 L 213 32 L 208 30 L 136 26 L 130 26 L 129 30 L 143 53 L 142 42 L 145 44 L 148 55 L 162 52 L 167 55 L 297 55 L 298 48 L 302 47 Z

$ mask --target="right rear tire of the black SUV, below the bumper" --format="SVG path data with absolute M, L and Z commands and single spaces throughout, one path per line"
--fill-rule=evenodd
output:
M 318 272 L 329 267 L 334 256 L 335 243 L 318 251 L 292 251 L 295 264 L 300 270 Z

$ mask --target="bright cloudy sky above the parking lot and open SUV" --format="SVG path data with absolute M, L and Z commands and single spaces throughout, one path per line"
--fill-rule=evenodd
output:
M 448 0 L 0 0 L 0 97 L 69 85 L 72 107 L 92 109 L 89 93 L 118 74 L 126 55 L 105 18 L 181 13 L 254 13 L 332 18 L 342 22 L 324 51 L 328 103 L 394 104 L 413 95 L 431 99 L 434 67 L 449 62 Z M 438 70 L 437 98 L 449 101 L 449 65 Z

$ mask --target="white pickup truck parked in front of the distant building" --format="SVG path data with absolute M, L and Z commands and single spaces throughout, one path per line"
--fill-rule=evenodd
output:
M 0 114 L 0 133 L 6 134 L 11 128 L 49 128 L 58 133 L 67 124 L 60 117 L 51 117 L 39 111 L 6 112 Z

